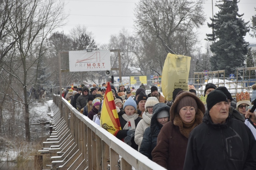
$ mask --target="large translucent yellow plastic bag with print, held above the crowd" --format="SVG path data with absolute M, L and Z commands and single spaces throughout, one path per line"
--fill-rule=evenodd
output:
M 168 101 L 172 100 L 175 88 L 188 91 L 188 75 L 191 57 L 168 53 L 162 70 L 162 92 Z

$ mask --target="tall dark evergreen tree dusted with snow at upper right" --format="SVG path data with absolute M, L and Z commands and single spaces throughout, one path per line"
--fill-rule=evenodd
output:
M 226 76 L 234 73 L 236 68 L 244 67 L 245 55 L 248 51 L 244 36 L 249 31 L 248 22 L 238 14 L 237 0 L 221 0 L 216 6 L 219 12 L 211 18 L 208 27 L 213 34 L 206 34 L 213 41 L 210 58 L 212 70 L 226 70 Z

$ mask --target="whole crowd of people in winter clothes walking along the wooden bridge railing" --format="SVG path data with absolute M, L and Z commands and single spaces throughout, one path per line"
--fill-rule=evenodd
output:
M 62 97 L 100 125 L 105 86 L 68 87 Z M 236 94 L 234 107 L 228 89 L 213 83 L 200 98 L 193 85 L 189 91 L 174 89 L 171 101 L 156 86 L 149 94 L 143 84 L 127 89 L 111 85 L 122 128 L 116 137 L 157 164 L 174 170 L 256 169 L 256 84 L 251 98 L 248 92 Z

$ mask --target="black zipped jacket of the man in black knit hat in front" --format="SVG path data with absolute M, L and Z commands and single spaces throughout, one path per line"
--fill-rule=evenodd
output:
M 256 141 L 251 130 L 229 114 L 214 124 L 209 112 L 189 136 L 184 170 L 255 170 Z

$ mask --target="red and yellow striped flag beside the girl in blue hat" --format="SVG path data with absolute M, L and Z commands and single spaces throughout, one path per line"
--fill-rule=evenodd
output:
M 107 88 L 104 95 L 104 102 L 101 108 L 100 125 L 106 131 L 115 135 L 121 129 L 120 121 L 116 111 L 116 106 L 111 91 L 110 83 L 107 82 Z

